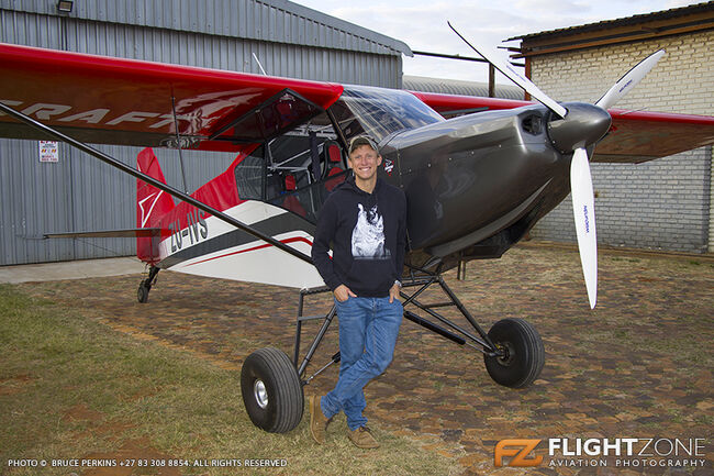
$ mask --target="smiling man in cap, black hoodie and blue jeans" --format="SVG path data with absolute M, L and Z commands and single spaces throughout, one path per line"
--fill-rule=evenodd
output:
M 404 264 L 406 199 L 377 178 L 382 162 L 367 136 L 349 144 L 349 177 L 325 201 L 312 258 L 333 290 L 339 321 L 339 379 L 327 395 L 310 398 L 310 431 L 322 444 L 331 419 L 347 417 L 349 440 L 378 447 L 362 411 L 365 385 L 391 363 L 402 322 L 399 290 Z M 333 258 L 327 252 L 332 245 Z

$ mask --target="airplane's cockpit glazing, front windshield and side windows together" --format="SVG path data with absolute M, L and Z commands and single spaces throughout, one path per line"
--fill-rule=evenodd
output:
M 395 132 L 444 119 L 415 96 L 395 89 L 346 87 L 327 113 L 312 118 L 236 164 L 235 182 L 244 200 L 260 200 L 316 223 L 330 191 L 347 175 L 346 152 L 333 120 L 349 139 L 367 133 L 378 142 Z

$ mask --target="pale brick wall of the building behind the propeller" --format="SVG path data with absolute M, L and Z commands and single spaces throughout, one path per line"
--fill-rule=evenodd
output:
M 714 31 L 537 56 L 536 85 L 559 101 L 596 101 L 623 74 L 659 48 L 667 55 L 617 102 L 622 109 L 714 115 Z M 712 147 L 645 164 L 593 164 L 598 241 L 615 246 L 714 252 Z M 574 241 L 568 197 L 534 237 Z

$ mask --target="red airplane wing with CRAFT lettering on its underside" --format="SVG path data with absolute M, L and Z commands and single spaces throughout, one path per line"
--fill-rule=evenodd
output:
M 330 82 L 0 44 L 0 102 L 88 143 L 237 152 L 332 104 Z M 176 124 L 179 136 L 177 137 Z M 0 136 L 44 140 L 0 114 Z

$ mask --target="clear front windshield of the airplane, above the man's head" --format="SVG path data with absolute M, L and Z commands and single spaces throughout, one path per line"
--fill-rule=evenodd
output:
M 398 89 L 345 86 L 341 101 L 377 142 L 398 131 L 444 121 L 414 95 Z

